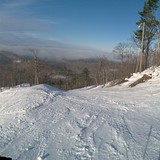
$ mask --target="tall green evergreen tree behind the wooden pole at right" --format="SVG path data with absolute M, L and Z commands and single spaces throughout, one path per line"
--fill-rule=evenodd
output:
M 139 12 L 140 21 L 136 23 L 138 26 L 144 24 L 142 53 L 144 53 L 145 61 L 143 69 L 148 67 L 151 42 L 155 39 L 156 33 L 158 32 L 159 21 L 155 16 L 155 11 L 158 9 L 158 1 L 159 0 L 148 0 L 145 2 L 143 11 Z M 142 28 L 134 32 L 135 39 L 139 45 L 142 43 L 142 32 Z

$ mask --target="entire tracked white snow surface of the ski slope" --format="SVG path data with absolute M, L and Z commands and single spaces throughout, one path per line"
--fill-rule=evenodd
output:
M 0 92 L 0 156 L 13 160 L 160 160 L 159 68 L 115 87 Z M 148 82 L 129 88 L 142 74 Z

